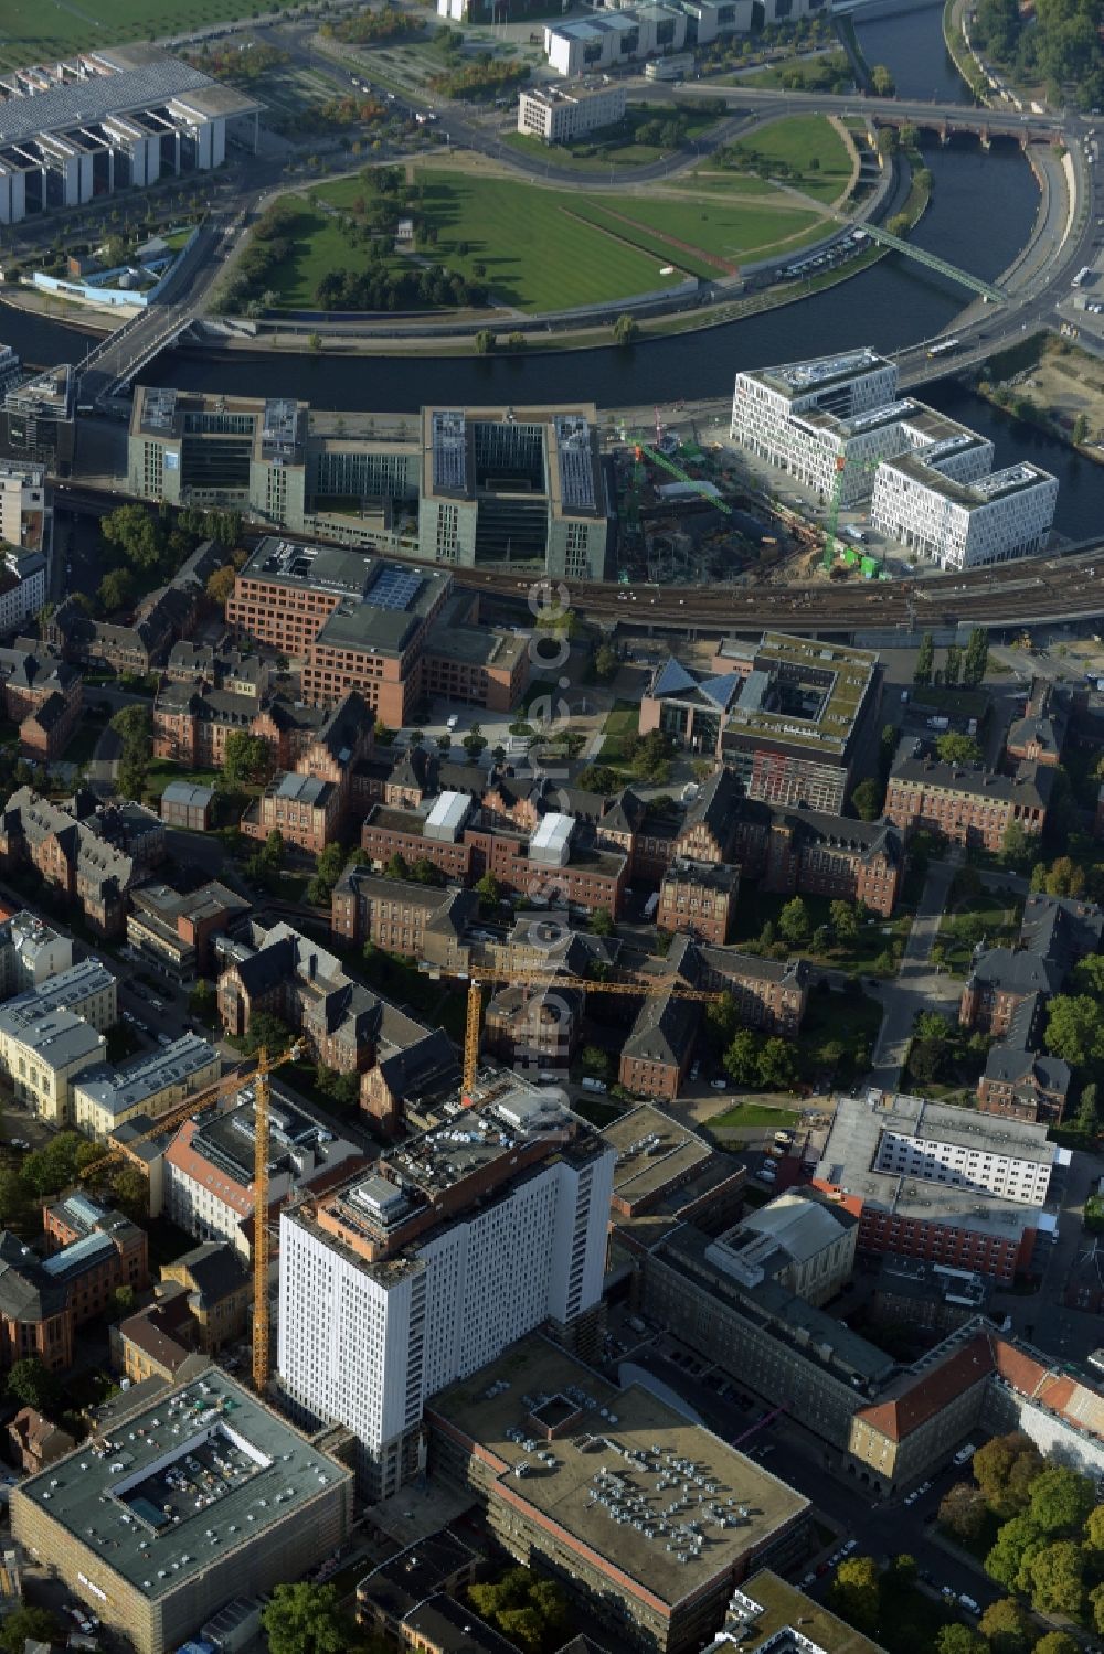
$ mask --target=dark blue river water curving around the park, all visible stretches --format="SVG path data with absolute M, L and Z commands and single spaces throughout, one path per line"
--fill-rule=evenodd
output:
M 874 30 L 871 61 L 892 69 L 902 93 L 938 91 L 947 55 L 942 12 L 929 7 L 859 25 Z M 962 83 L 953 79 L 965 96 Z M 927 86 L 927 93 L 925 93 Z M 947 147 L 932 141 L 932 203 L 914 232 L 917 246 L 995 278 L 1026 243 L 1038 208 L 1038 187 L 1011 144 L 986 154 L 968 139 Z M 983 233 L 980 215 L 983 213 Z M 872 344 L 894 351 L 948 326 L 967 289 L 914 260 L 892 255 L 816 298 L 763 316 L 682 337 L 655 339 L 629 351 L 550 351 L 515 357 L 273 357 L 225 354 L 202 357 L 167 352 L 142 377 L 177 389 L 242 395 L 296 395 L 319 409 L 410 412 L 420 404 L 548 404 L 591 400 L 626 407 L 677 399 L 717 397 L 732 389 L 740 369 L 765 367 L 804 356 Z M 25 361 L 79 361 L 88 339 L 58 323 L 23 318 L 0 306 L 0 341 Z M 996 463 L 1036 460 L 1059 478 L 1056 526 L 1081 539 L 1104 521 L 1104 470 L 1081 460 L 1064 443 L 1020 425 L 953 382 L 932 385 L 925 399 L 983 432 L 996 443 Z

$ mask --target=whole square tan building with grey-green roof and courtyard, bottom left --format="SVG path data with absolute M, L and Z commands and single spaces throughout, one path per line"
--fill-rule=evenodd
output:
M 179 1649 L 233 1598 L 270 1593 L 349 1537 L 349 1470 L 220 1368 L 152 1401 L 134 1393 L 109 1431 L 13 1490 L 12 1532 L 137 1654 Z M 169 1515 L 157 1540 L 151 1510 Z

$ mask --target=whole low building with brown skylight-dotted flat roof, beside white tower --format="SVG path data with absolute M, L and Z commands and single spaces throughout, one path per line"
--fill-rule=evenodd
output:
M 601 1462 L 611 1413 L 627 1459 L 616 1470 Z M 551 1573 L 619 1649 L 700 1649 L 738 1581 L 786 1568 L 808 1543 L 801 1494 L 650 1389 L 617 1389 L 543 1338 L 435 1396 L 427 1421 L 430 1469 L 475 1494 L 503 1550 Z M 670 1512 L 675 1474 L 702 1482 L 708 1545 Z

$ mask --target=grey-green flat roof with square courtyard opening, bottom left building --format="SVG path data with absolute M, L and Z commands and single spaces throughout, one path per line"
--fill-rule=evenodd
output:
M 88 1555 L 89 1578 L 114 1571 L 157 1599 L 296 1512 L 310 1520 L 311 1503 L 349 1479 L 212 1366 L 116 1416 L 108 1436 L 23 1482 L 12 1499 L 45 1507 Z

